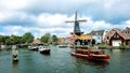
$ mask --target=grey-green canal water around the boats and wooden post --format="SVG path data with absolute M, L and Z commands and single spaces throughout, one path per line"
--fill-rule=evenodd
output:
M 0 73 L 129 73 L 130 49 L 105 49 L 109 62 L 88 61 L 70 55 L 70 48 L 50 46 L 51 54 L 20 49 L 13 62 L 11 50 L 0 50 Z

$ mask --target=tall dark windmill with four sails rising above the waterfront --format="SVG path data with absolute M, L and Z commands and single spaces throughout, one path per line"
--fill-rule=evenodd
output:
M 74 23 L 74 32 L 72 32 L 72 34 L 76 34 L 76 35 L 81 35 L 83 32 L 81 32 L 80 27 L 79 27 L 79 23 L 81 21 L 87 21 L 86 19 L 77 19 L 77 12 L 75 13 L 75 20 L 67 20 L 65 23 Z

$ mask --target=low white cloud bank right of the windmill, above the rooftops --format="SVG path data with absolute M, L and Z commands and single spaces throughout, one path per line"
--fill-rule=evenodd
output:
M 104 20 L 92 20 L 90 17 L 84 17 L 88 21 L 86 24 L 80 25 L 81 30 L 84 33 L 88 33 L 92 30 L 108 30 L 113 28 L 125 29 L 126 27 L 130 27 L 130 20 L 126 20 L 121 24 L 109 24 Z

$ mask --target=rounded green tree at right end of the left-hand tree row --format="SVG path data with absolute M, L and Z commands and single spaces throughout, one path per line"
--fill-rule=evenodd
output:
M 34 41 L 34 35 L 30 32 L 26 32 L 23 36 L 22 36 L 22 42 L 23 43 L 31 43 Z

